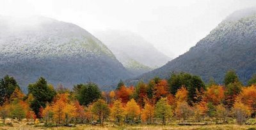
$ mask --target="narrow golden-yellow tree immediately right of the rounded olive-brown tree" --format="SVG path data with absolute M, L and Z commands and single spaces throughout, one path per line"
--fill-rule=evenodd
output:
M 111 117 L 115 119 L 117 123 L 119 123 L 122 119 L 124 119 L 124 116 L 125 110 L 122 105 L 122 101 L 120 99 L 117 99 L 116 101 L 114 101 L 111 108 Z

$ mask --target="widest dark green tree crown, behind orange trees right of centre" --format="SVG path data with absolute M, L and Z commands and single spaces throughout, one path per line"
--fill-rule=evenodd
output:
M 192 105 L 196 102 L 196 89 L 205 89 L 205 84 L 199 76 L 190 75 L 189 73 L 172 73 L 168 80 L 170 92 L 175 95 L 180 87 L 188 89 L 188 103 Z

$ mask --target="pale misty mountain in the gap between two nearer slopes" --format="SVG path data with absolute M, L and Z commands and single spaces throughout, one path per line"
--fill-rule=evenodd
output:
M 136 76 L 163 66 L 171 60 L 151 43 L 130 31 L 108 30 L 96 32 L 95 36 Z

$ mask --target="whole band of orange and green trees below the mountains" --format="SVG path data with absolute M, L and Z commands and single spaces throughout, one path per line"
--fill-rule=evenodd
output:
M 79 124 L 115 127 L 129 125 L 192 126 L 256 124 L 256 76 L 247 85 L 235 71 L 227 71 L 223 84 L 211 78 L 172 73 L 135 86 L 120 80 L 115 90 L 100 91 L 93 82 L 67 89 L 45 78 L 28 85 L 24 94 L 15 78 L 0 81 L 1 126 L 26 122 L 33 127 L 75 127 Z

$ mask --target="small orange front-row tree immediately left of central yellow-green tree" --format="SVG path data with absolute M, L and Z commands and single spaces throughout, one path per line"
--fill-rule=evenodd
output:
M 148 122 L 151 124 L 154 119 L 154 105 L 151 105 L 150 103 L 145 104 L 145 108 L 141 112 L 141 119 L 143 122 Z

